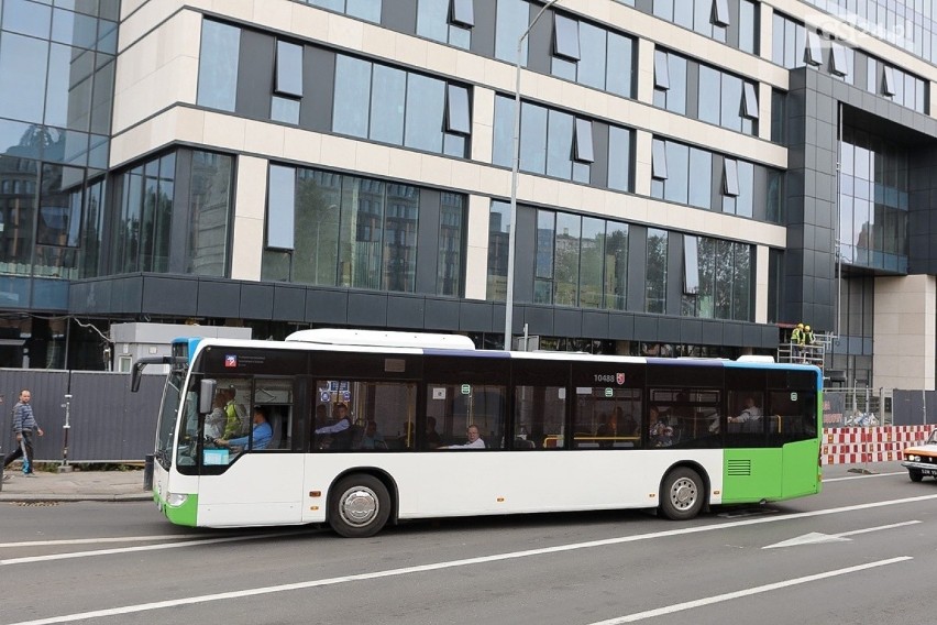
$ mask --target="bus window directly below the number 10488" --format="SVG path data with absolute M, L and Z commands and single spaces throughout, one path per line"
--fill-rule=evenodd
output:
M 577 386 L 573 415 L 575 449 L 636 448 L 641 446 L 638 388 Z

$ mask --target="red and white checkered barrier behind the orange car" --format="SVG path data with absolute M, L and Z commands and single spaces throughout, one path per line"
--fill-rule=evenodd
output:
M 903 460 L 906 447 L 922 442 L 934 426 L 824 428 L 824 464 L 856 464 Z

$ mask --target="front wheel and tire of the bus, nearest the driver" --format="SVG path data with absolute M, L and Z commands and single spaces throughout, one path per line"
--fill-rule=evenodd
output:
M 367 538 L 384 527 L 390 516 L 390 494 L 374 475 L 346 475 L 332 489 L 329 525 L 345 538 Z

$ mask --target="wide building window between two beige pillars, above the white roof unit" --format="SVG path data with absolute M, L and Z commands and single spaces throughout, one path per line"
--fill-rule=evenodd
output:
M 419 188 L 274 164 L 269 177 L 264 279 L 415 292 Z M 430 196 L 440 197 L 428 210 L 439 215 L 433 293 L 461 296 L 465 199 Z

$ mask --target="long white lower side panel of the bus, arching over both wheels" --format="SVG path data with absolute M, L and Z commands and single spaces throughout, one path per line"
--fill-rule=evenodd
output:
M 305 490 L 327 492 L 339 471 L 359 462 L 362 470 L 390 475 L 401 519 L 648 508 L 658 505 L 668 470 L 687 458 L 720 490 L 721 454 L 716 449 L 312 454 Z M 306 522 L 326 518 L 321 509 L 304 514 Z

